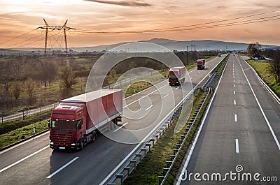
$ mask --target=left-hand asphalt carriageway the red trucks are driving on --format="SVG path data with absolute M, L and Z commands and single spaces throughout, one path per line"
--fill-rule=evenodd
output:
M 211 68 L 214 68 L 222 59 L 223 57 L 209 61 L 204 71 L 197 71 L 195 68 L 190 70 L 193 87 L 197 87 L 197 84 L 208 77 Z M 171 95 L 167 96 L 170 93 L 167 80 L 156 84 L 156 87 L 160 89 L 160 94 L 165 97 L 167 103 L 169 98 L 173 98 Z M 174 94 L 180 94 L 180 88 L 172 87 L 172 91 Z M 149 108 L 151 105 L 144 103 L 143 108 L 145 110 L 148 108 L 149 111 L 147 116 L 143 117 L 141 121 L 138 120 L 138 124 L 129 119 L 123 119 L 123 128 L 138 128 L 140 124 L 151 124 L 152 119 L 164 119 L 171 107 L 165 106 L 163 113 L 158 114 L 158 109 L 161 108 L 160 101 L 158 101 L 160 94 L 159 91 L 155 91 L 154 87 L 151 87 L 126 98 L 127 103 L 135 102 L 137 104 L 139 98 L 148 95 L 151 99 L 149 103 L 153 103 L 153 107 Z M 176 103 L 179 103 L 180 98 L 175 99 Z M 137 105 L 130 106 L 137 108 Z M 97 141 L 86 146 L 83 151 L 52 151 L 49 148 L 48 137 L 48 133 L 45 133 L 1 151 L 0 184 L 104 184 L 113 175 L 113 172 L 118 170 L 118 165 L 125 161 L 130 156 L 130 152 L 138 146 L 137 144 L 121 144 L 104 135 L 98 135 Z

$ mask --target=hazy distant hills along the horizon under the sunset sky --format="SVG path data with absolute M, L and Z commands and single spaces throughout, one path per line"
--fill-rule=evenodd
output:
M 151 40 L 139 40 L 138 42 L 148 42 L 155 43 L 158 45 L 162 45 L 163 47 L 167 47 L 169 50 L 246 50 L 248 47 L 248 43 L 233 43 L 233 42 L 224 42 L 219 40 L 186 40 L 186 41 L 178 41 L 178 40 L 169 40 L 165 38 L 153 38 Z M 130 42 L 125 43 L 116 43 L 112 45 L 97 45 L 93 47 L 71 47 L 74 51 L 102 51 L 102 50 L 112 50 L 114 47 L 118 47 L 119 45 L 123 45 Z M 192 47 L 193 45 L 193 47 Z M 195 45 L 195 47 L 194 47 Z M 207 48 L 209 46 L 209 48 Z M 274 45 L 262 45 L 263 47 L 276 47 Z

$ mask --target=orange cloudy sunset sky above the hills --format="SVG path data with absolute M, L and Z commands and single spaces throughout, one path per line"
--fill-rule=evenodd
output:
M 61 26 L 68 20 L 67 26 L 76 29 L 74 34 L 67 33 L 69 47 L 104 45 L 151 38 L 211 39 L 280 45 L 279 0 L 0 0 L 0 6 L 0 48 L 43 47 L 43 30 L 34 30 L 37 27 L 44 26 L 43 18 L 50 26 Z M 251 16 L 255 14 L 261 15 Z M 204 24 L 237 17 L 244 18 Z M 190 28 L 186 26 L 192 24 L 209 26 L 244 20 L 258 21 L 264 20 L 264 17 L 278 20 L 232 27 L 186 30 L 186 28 Z M 113 33 L 116 31 L 143 31 L 172 27 L 183 27 L 185 30 L 176 29 L 176 31 L 153 33 Z M 107 33 L 80 32 L 85 30 Z M 31 32 L 25 36 L 20 36 L 28 31 Z M 59 45 L 64 45 L 61 42 L 62 37 L 60 35 L 59 31 L 52 31 L 49 34 L 48 46 L 59 47 Z M 20 37 L 15 38 L 17 36 Z

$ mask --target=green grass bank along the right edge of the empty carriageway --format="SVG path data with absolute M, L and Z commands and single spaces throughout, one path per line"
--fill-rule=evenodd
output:
M 272 64 L 268 63 L 266 60 L 247 60 L 247 62 L 253 68 L 255 68 L 255 71 L 259 73 L 259 75 L 263 80 L 265 80 L 269 87 L 272 88 L 276 92 L 276 94 L 278 94 L 278 96 L 280 96 L 280 82 L 276 83 L 273 74 L 269 72 L 269 68 L 270 66 L 272 66 Z

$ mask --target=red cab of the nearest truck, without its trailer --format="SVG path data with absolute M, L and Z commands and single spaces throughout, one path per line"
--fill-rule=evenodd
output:
M 87 107 L 80 103 L 59 103 L 52 110 L 50 122 L 50 148 L 80 149 L 88 138 L 86 132 Z M 96 134 L 96 133 L 94 133 Z M 96 135 L 94 136 L 96 138 Z

